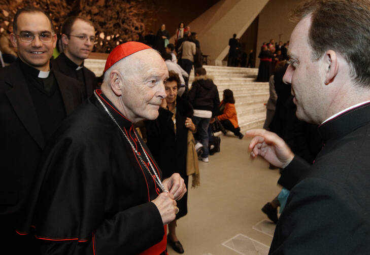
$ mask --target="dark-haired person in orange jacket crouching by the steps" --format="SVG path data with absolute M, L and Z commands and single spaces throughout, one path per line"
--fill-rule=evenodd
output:
M 235 109 L 235 99 L 232 90 L 225 89 L 223 91 L 223 99 L 220 103 L 220 113 L 217 119 L 220 121 L 222 126 L 226 130 L 230 130 L 234 135 L 238 136 L 239 139 L 243 138 L 243 134 L 240 132 L 238 125 L 237 110 Z

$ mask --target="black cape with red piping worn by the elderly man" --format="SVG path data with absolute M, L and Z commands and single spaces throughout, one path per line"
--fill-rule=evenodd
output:
M 148 164 L 139 142 L 153 157 L 132 123 L 103 94 L 99 98 Z M 95 96 L 50 139 L 35 186 L 40 192 L 31 222 L 43 254 L 139 254 L 163 240 L 160 213 L 150 202 L 161 191 Z M 154 254 L 162 254 L 165 243 L 162 248 Z

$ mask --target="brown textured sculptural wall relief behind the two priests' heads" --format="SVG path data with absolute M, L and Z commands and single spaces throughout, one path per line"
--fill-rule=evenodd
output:
M 0 0 L 0 27 L 6 29 L 14 14 L 25 6 L 35 6 L 50 15 L 59 34 L 64 19 L 84 16 L 95 26 L 95 52 L 110 52 L 118 44 L 138 41 L 154 13 L 151 1 L 136 0 Z M 149 19 L 149 20 L 148 20 Z

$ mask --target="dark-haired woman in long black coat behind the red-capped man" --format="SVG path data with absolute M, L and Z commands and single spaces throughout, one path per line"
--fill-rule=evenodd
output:
M 164 88 L 167 97 L 162 100 L 159 116 L 154 121 L 146 121 L 147 144 L 163 173 L 163 178 L 178 172 L 184 178 L 188 187 L 186 174 L 187 138 L 188 130 L 195 132 L 195 125 L 191 121 L 193 108 L 191 104 L 177 96 L 180 79 L 176 72 L 169 71 Z M 187 214 L 187 193 L 177 201 L 179 213 L 176 220 L 169 224 L 167 243 L 172 248 L 183 253 L 184 249 L 176 236 L 176 221 Z

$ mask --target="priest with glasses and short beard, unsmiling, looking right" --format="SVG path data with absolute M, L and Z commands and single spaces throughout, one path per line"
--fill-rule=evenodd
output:
M 95 42 L 95 28 L 91 21 L 78 16 L 67 18 L 61 28 L 63 52 L 52 61 L 53 68 L 81 82 L 84 98 L 97 88 L 94 73 L 84 66 Z

